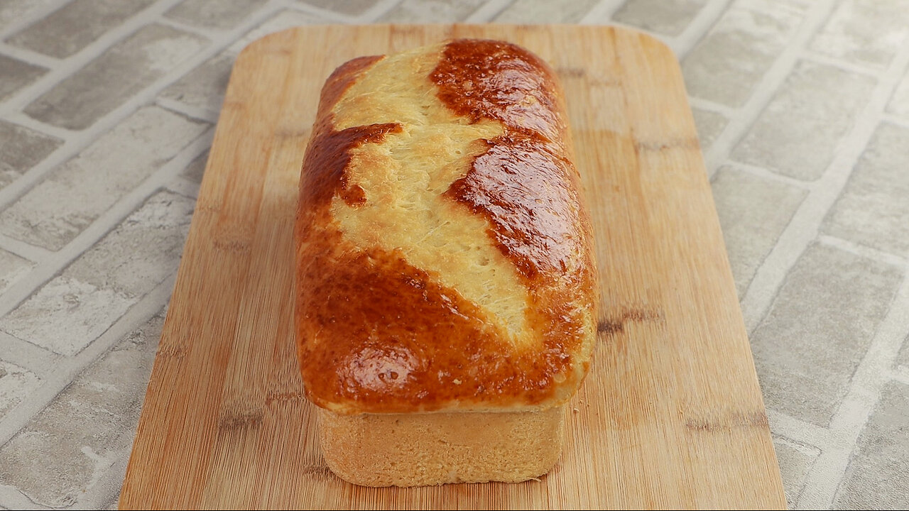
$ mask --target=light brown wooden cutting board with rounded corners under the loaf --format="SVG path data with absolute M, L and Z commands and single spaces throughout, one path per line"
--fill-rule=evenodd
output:
M 446 37 L 513 41 L 561 76 L 602 276 L 599 342 L 539 481 L 349 485 L 295 359 L 292 231 L 335 66 Z M 237 58 L 122 508 L 783 508 L 723 236 L 672 52 L 605 26 L 306 26 Z

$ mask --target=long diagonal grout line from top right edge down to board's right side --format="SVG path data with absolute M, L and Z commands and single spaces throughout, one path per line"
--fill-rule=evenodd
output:
M 733 146 L 747 133 L 748 128 L 764 111 L 764 107 L 770 103 L 777 89 L 783 85 L 786 76 L 798 62 L 804 46 L 833 11 L 834 4 L 834 0 L 825 0 L 809 7 L 793 39 L 776 58 L 761 81 L 754 85 L 754 94 L 739 110 L 739 114 L 730 119 L 723 133 L 716 137 L 714 144 L 704 155 L 708 175 L 714 175 L 716 169 L 732 152 Z

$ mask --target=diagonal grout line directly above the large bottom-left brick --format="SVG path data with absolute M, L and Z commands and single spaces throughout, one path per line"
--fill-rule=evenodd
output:
M 105 330 L 105 333 L 98 336 L 92 344 L 85 346 L 75 356 L 60 357 L 60 362 L 54 367 L 53 376 L 46 379 L 28 396 L 28 399 L 15 406 L 0 419 L 0 446 L 5 446 L 16 433 L 27 426 L 45 406 L 50 404 L 85 370 L 85 367 L 90 366 L 109 351 L 123 336 L 155 316 L 170 299 L 174 289 L 175 275 L 176 272 L 172 273 L 155 286 L 131 306 L 123 316 L 120 316 L 114 325 Z M 8 503 L 8 501 L 5 502 Z

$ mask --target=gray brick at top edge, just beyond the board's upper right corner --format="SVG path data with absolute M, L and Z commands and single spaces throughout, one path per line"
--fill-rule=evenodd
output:
M 628 0 L 613 19 L 658 34 L 679 35 L 704 4 L 706 0 Z

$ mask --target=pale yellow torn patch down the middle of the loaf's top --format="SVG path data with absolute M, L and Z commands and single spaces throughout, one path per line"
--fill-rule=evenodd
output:
M 436 97 L 428 76 L 441 51 L 386 57 L 341 96 L 332 110 L 336 130 L 382 123 L 402 129 L 351 151 L 347 185 L 363 188 L 365 204 L 335 196 L 331 212 L 347 241 L 400 250 L 410 265 L 481 307 L 513 346 L 530 346 L 536 337 L 526 325 L 527 288 L 517 268 L 485 235 L 484 217 L 442 195 L 486 150 L 483 139 L 502 135 L 504 126 L 470 124 Z

